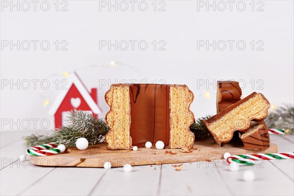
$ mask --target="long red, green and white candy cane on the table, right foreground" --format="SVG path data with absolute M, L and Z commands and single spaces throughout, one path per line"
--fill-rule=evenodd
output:
M 230 164 L 230 160 L 243 164 L 243 165 L 254 165 L 254 161 L 257 160 L 276 160 L 276 159 L 294 159 L 294 152 L 286 153 L 266 153 L 266 154 L 239 154 L 229 156 L 226 161 Z

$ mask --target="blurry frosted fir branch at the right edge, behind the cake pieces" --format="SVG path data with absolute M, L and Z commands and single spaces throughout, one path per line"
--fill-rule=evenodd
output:
M 287 104 L 277 107 L 269 112 L 265 122 L 268 128 L 285 129 L 286 134 L 294 134 L 294 106 Z

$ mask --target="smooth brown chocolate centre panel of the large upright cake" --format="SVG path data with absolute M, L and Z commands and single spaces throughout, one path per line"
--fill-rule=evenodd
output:
M 131 84 L 130 136 L 132 146 L 163 141 L 170 144 L 170 85 Z

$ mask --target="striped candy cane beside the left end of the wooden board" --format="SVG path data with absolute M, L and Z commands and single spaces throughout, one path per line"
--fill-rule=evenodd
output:
M 48 156 L 58 154 L 59 152 L 61 152 L 61 150 L 57 147 L 57 145 L 55 145 L 55 143 L 43 144 L 26 149 L 26 154 L 33 156 Z

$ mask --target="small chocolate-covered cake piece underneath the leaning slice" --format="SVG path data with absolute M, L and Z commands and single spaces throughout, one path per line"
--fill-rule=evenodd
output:
M 267 149 L 270 147 L 270 136 L 264 121 L 252 122 L 251 127 L 241 133 L 240 138 L 245 149 Z

